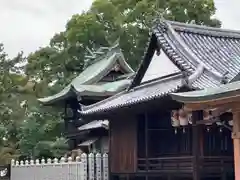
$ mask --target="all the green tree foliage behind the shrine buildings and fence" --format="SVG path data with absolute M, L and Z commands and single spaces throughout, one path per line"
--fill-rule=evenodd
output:
M 62 89 L 85 67 L 86 48 L 109 46 L 119 39 L 126 60 L 137 68 L 147 46 L 154 18 L 216 26 L 213 0 L 95 0 L 75 14 L 49 45 L 27 57 L 9 59 L 0 45 L 0 163 L 13 156 L 63 155 L 59 112 L 41 107 L 38 97 Z M 24 73 L 23 73 L 24 72 Z M 49 83 L 55 84 L 49 86 Z

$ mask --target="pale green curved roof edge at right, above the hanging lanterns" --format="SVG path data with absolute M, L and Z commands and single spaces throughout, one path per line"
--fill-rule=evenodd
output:
M 224 100 L 240 95 L 240 81 L 221 85 L 219 87 L 206 88 L 204 90 L 171 93 L 171 97 L 184 103 L 202 103 L 208 101 Z

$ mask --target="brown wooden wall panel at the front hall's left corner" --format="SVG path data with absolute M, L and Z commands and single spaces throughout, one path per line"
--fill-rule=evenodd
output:
M 137 120 L 122 117 L 110 120 L 110 171 L 134 173 L 137 169 Z

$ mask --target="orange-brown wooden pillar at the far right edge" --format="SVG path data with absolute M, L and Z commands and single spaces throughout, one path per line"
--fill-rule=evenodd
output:
M 240 180 L 240 107 L 233 109 L 233 146 L 235 180 Z

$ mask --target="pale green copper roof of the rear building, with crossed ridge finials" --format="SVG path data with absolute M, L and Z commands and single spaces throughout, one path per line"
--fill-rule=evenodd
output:
M 121 70 L 123 70 L 126 75 L 132 77 L 134 73 L 133 69 L 125 61 L 118 44 L 110 48 L 100 48 L 95 53 L 95 55 L 93 52 L 92 56 L 87 56 L 87 58 L 95 58 L 94 62 L 79 74 L 79 76 L 73 79 L 62 91 L 38 100 L 44 105 L 61 104 L 66 98 L 76 96 L 76 94 L 92 96 L 95 94 L 96 96 L 103 96 L 104 94 L 112 95 L 114 91 L 118 92 L 123 90 L 123 87 L 125 88 L 129 85 L 130 80 L 128 80 L 128 76 L 125 80 L 98 85 L 98 82 L 106 76 L 116 64 L 120 65 Z

